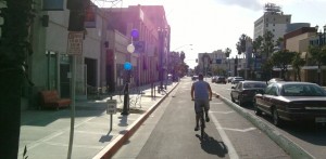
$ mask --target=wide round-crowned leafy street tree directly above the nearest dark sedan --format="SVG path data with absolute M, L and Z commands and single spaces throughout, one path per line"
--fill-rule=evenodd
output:
M 273 53 L 271 59 L 274 66 L 280 68 L 281 78 L 286 79 L 285 75 L 288 72 L 288 65 L 292 63 L 296 52 L 289 52 L 288 50 L 281 50 Z

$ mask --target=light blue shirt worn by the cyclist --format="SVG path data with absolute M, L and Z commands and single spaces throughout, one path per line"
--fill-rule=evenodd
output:
M 199 80 L 192 83 L 195 89 L 195 98 L 196 100 L 209 100 L 209 83 Z

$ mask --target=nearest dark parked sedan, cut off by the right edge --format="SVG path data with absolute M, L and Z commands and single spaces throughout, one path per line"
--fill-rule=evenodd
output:
M 265 112 L 273 123 L 284 120 L 326 122 L 326 91 L 310 82 L 275 82 L 254 96 L 255 114 Z

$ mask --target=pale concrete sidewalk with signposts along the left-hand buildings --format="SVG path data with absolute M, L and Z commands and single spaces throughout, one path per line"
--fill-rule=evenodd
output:
M 122 116 L 124 95 L 114 95 L 117 112 L 106 115 L 106 100 L 77 101 L 72 158 L 110 158 L 166 95 L 178 84 L 171 82 L 166 93 L 155 92 L 151 96 L 150 85 L 139 88 L 141 95 L 130 94 L 129 115 Z M 156 84 L 158 85 L 158 84 Z M 112 125 L 111 125 L 112 119 Z M 22 111 L 18 158 L 23 158 L 25 146 L 30 159 L 66 159 L 71 133 L 71 109 Z M 112 128 L 112 130 L 111 130 Z

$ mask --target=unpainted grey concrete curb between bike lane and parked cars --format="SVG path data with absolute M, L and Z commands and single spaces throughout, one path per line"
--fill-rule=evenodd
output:
M 217 94 L 215 92 L 213 94 L 218 96 L 224 103 L 226 103 L 228 106 L 230 106 L 237 112 L 239 112 L 242 117 L 244 117 L 247 120 L 249 120 L 252 124 L 258 127 L 262 132 L 267 134 L 268 137 L 272 138 L 277 145 L 279 145 L 285 151 L 287 151 L 291 156 L 291 158 L 304 158 L 304 159 L 314 159 L 315 158 L 311 154 L 309 154 L 306 150 L 304 150 L 302 147 L 297 145 L 294 142 L 287 138 L 283 134 L 280 134 L 273 127 L 266 124 L 260 118 L 248 112 L 244 108 L 239 107 L 237 104 L 225 98 L 224 96 L 221 96 L 220 94 Z

